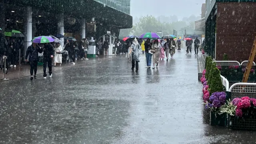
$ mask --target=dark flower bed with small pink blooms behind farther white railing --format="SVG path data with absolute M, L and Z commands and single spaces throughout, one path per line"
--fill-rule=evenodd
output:
M 242 71 L 240 66 L 217 66 L 220 74 L 224 76 L 229 82 L 241 82 Z

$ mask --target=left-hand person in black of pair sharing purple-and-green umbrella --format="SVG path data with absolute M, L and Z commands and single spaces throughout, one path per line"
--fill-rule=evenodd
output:
M 28 46 L 25 59 L 26 59 L 26 62 L 27 62 L 28 61 L 28 55 L 29 55 L 30 80 L 33 80 L 33 72 L 34 72 L 34 78 L 36 79 L 37 64 L 39 62 L 38 52 L 42 53 L 43 50 L 37 45 L 37 43 L 33 42 L 31 46 Z

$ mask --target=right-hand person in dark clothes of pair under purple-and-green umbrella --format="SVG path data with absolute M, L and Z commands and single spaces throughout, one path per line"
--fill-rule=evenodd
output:
M 46 68 L 48 65 L 48 69 L 49 69 L 49 76 L 50 78 L 52 77 L 52 58 L 54 56 L 54 48 L 52 46 L 52 44 L 50 43 L 45 43 L 43 46 L 43 52 L 44 52 L 44 64 L 43 64 L 43 70 L 44 70 L 44 79 L 46 79 Z

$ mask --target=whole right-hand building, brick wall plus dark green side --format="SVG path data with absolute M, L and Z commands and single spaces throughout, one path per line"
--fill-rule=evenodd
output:
M 256 36 L 256 0 L 206 0 L 206 52 L 248 60 Z

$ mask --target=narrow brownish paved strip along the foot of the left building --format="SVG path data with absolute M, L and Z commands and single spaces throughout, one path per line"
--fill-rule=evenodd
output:
M 70 63 L 68 64 L 62 64 L 62 66 L 52 66 L 52 70 L 56 71 L 56 70 L 64 70 L 64 69 L 68 69 L 68 68 L 73 68 L 73 67 L 79 67 L 79 66 L 84 66 L 87 64 L 92 64 L 92 63 L 97 63 L 97 62 L 103 62 L 106 60 L 112 60 L 115 58 L 121 58 L 124 57 L 124 55 L 118 55 L 118 56 L 98 56 L 97 58 L 90 58 L 89 60 L 78 60 L 76 62 L 75 65 L 72 65 Z M 47 72 L 48 72 L 48 68 L 47 68 Z M 38 71 L 37 71 L 37 75 L 41 76 L 43 74 L 43 67 L 42 66 L 38 66 Z M 8 70 L 8 74 L 6 75 L 6 78 L 13 80 L 13 79 L 17 79 L 17 78 L 23 78 L 26 76 L 30 76 L 30 65 L 26 64 L 26 65 L 20 65 L 16 68 L 12 67 Z M 0 78 L 4 78 L 3 72 L 1 70 L 0 72 Z M 2 80 L 0 80 L 0 82 L 2 82 Z

